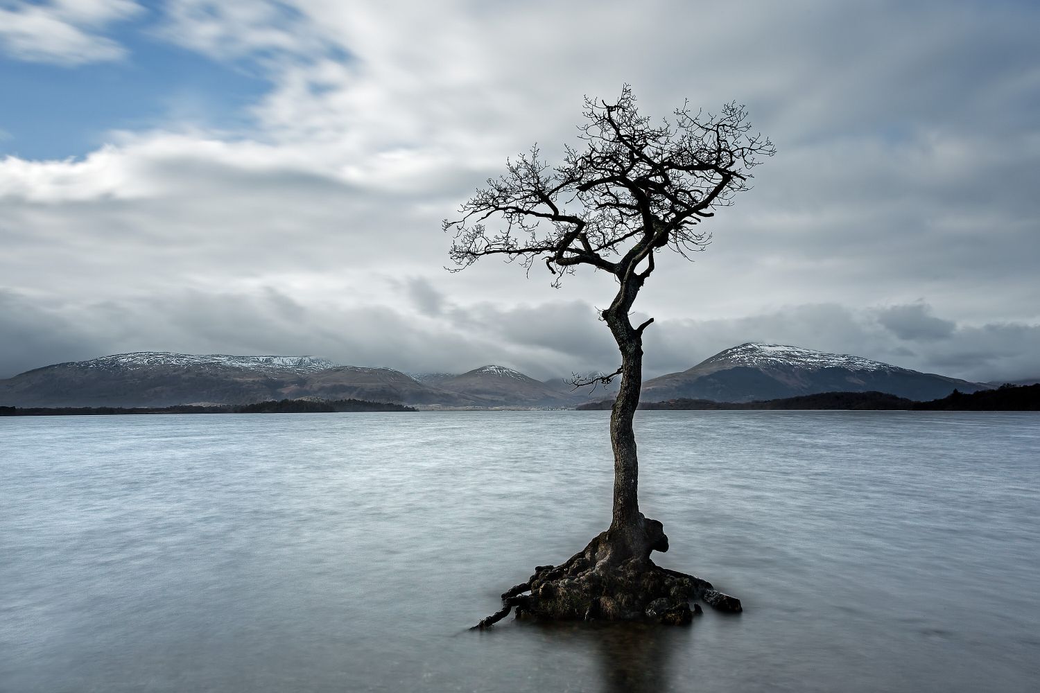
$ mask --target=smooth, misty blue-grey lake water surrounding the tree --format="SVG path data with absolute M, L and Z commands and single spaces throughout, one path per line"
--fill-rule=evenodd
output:
M 609 518 L 604 411 L 0 419 L 0 691 L 1032 691 L 1040 417 L 643 411 L 690 628 L 467 627 Z

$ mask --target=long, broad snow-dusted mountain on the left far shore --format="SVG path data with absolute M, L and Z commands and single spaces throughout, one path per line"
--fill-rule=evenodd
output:
M 248 404 L 301 398 L 476 403 L 389 368 L 336 366 L 314 356 L 147 351 L 55 364 L 0 380 L 0 405 L 20 407 Z

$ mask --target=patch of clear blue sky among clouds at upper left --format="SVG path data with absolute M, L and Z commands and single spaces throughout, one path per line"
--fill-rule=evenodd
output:
M 270 82 L 246 62 L 222 63 L 150 35 L 139 23 L 109 32 L 118 61 L 57 65 L 0 54 L 0 155 L 82 157 L 111 130 L 185 125 L 249 129 L 249 106 Z

